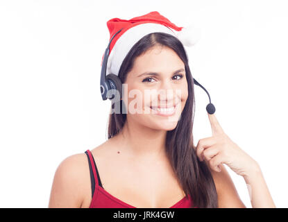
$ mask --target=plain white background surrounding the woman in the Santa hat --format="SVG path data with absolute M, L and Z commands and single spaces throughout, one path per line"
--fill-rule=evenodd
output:
M 276 207 L 287 207 L 287 1 L 0 1 L 0 207 L 48 207 L 56 168 L 105 142 L 106 22 L 157 10 L 201 40 L 192 76 L 226 134 L 259 164 Z M 195 88 L 194 139 L 211 136 L 207 94 Z M 228 168 L 228 167 L 226 167 Z M 228 168 L 240 198 L 246 183 Z

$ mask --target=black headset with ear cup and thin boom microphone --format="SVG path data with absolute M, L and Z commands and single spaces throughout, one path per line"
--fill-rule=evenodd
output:
M 108 62 L 108 56 L 109 56 L 109 52 L 110 52 L 110 44 L 113 40 L 113 38 L 115 37 L 115 35 L 117 35 L 123 28 L 121 28 L 119 31 L 117 31 L 117 33 L 115 33 L 109 44 L 107 49 L 105 49 L 105 53 L 104 53 L 104 58 L 103 58 L 103 62 L 102 62 L 102 68 L 101 68 L 101 76 L 100 76 L 100 90 L 101 90 L 101 96 L 103 100 L 106 99 L 113 99 L 114 98 L 114 94 L 111 94 L 111 89 L 115 89 L 119 92 L 120 95 L 120 99 L 122 98 L 122 83 L 120 78 L 115 75 L 115 74 L 108 74 L 106 76 L 106 69 L 107 69 L 107 62 Z M 195 78 L 193 78 L 194 80 L 194 84 L 200 86 L 208 95 L 209 97 L 209 104 L 206 106 L 206 110 L 209 114 L 214 114 L 215 112 L 215 107 L 214 105 L 211 103 L 211 99 L 210 99 L 210 95 L 207 92 L 207 90 L 200 84 L 198 83 Z

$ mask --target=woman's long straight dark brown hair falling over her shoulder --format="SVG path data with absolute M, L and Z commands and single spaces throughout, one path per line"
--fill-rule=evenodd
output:
M 192 198 L 191 207 L 218 207 L 217 191 L 210 169 L 205 161 L 198 160 L 193 143 L 193 119 L 195 112 L 194 82 L 188 65 L 188 57 L 183 44 L 173 35 L 166 33 L 150 33 L 139 40 L 128 52 L 119 69 L 121 83 L 126 81 L 128 72 L 133 68 L 135 58 L 142 55 L 151 47 L 160 45 L 167 46 L 175 51 L 185 64 L 186 78 L 188 83 L 188 98 L 185 103 L 177 126 L 167 131 L 166 152 L 173 171 L 182 185 L 185 195 Z M 120 103 L 120 110 L 125 105 Z M 114 103 L 111 104 L 114 108 Z M 126 123 L 125 113 L 110 113 L 108 121 L 108 139 L 119 133 Z

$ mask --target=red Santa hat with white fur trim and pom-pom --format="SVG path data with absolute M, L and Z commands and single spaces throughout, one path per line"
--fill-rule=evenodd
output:
M 149 33 L 167 33 L 173 35 L 182 42 L 184 46 L 193 46 L 199 39 L 199 30 L 193 26 L 179 27 L 171 23 L 169 19 L 153 11 L 146 15 L 134 17 L 125 20 L 114 18 L 107 22 L 110 31 L 110 40 L 115 33 L 119 32 L 113 38 L 110 44 L 110 53 L 107 62 L 106 74 L 115 74 L 118 76 L 119 69 L 124 58 L 127 56 L 133 45 L 142 37 Z M 104 55 L 103 55 L 104 56 Z M 103 63 L 103 57 L 101 66 Z

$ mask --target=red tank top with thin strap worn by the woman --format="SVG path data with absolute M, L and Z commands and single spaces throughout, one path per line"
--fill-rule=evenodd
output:
M 92 201 L 89 208 L 136 208 L 105 191 L 92 153 L 90 150 L 85 151 L 85 153 L 89 162 L 92 188 Z M 189 208 L 190 203 L 193 204 L 191 198 L 185 196 L 169 208 Z

